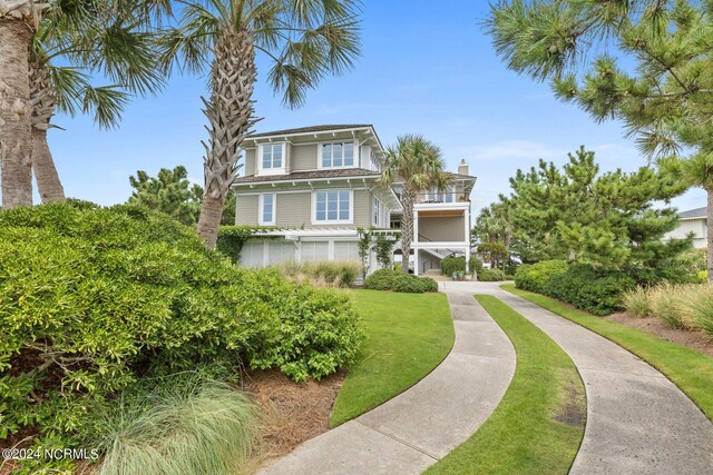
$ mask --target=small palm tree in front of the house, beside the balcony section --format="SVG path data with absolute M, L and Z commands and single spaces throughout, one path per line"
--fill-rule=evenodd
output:
M 452 182 L 452 176 L 445 171 L 440 148 L 421 136 L 407 135 L 397 139 L 395 147 L 387 149 L 387 161 L 381 182 L 391 187 L 403 181 L 401 205 L 401 270 L 409 271 L 408 259 L 413 241 L 413 204 L 416 197 L 429 189 L 443 190 Z

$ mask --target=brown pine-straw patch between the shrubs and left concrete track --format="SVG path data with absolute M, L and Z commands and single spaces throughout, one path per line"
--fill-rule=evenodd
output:
M 329 429 L 330 413 L 345 372 L 321 382 L 294 383 L 279 370 L 248 372 L 244 388 L 264 410 L 262 454 L 281 457 L 303 442 Z M 266 462 L 266 461 L 264 461 Z

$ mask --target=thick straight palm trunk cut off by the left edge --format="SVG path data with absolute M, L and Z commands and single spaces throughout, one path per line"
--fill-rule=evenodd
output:
M 30 4 L 30 2 L 27 2 Z M 21 9 L 0 1 L 0 174 L 2 207 L 32 206 L 29 50 L 32 29 Z M 12 13 L 16 13 L 14 16 Z

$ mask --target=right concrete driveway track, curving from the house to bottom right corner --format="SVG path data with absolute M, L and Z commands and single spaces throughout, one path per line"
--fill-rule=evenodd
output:
M 713 474 L 713 424 L 652 366 L 497 284 L 441 286 L 497 296 L 575 363 L 587 394 L 587 426 L 573 474 Z

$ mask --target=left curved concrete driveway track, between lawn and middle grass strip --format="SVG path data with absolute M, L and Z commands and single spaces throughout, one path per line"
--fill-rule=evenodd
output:
M 447 291 L 456 342 L 428 376 L 305 442 L 263 474 L 419 474 L 470 437 L 515 374 L 510 340 L 471 294 Z

